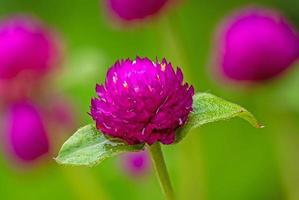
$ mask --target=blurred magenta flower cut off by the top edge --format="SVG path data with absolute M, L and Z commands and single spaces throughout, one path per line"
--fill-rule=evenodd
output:
M 169 0 L 107 0 L 111 12 L 125 21 L 156 14 Z

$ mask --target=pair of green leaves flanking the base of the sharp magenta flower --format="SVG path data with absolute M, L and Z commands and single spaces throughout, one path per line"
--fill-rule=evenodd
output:
M 261 125 L 254 116 L 241 106 L 230 103 L 208 93 L 197 93 L 193 97 L 193 112 L 185 126 L 176 133 L 175 143 L 180 142 L 193 128 L 220 120 L 241 117 L 256 128 Z M 119 140 L 106 138 L 94 125 L 79 129 L 62 146 L 55 160 L 64 165 L 93 166 L 106 158 L 123 152 L 143 150 L 144 145 L 128 145 Z

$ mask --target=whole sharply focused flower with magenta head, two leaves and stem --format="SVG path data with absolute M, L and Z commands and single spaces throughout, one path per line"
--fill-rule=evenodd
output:
M 147 148 L 165 199 L 175 199 L 175 195 L 160 143 L 177 144 L 196 127 L 237 116 L 256 128 L 262 127 L 237 104 L 208 93 L 194 95 L 182 71 L 174 70 L 165 59 L 152 62 L 137 57 L 116 61 L 105 83 L 96 85 L 96 93 L 98 97 L 91 99 L 89 113 L 95 123 L 69 137 L 56 162 L 95 166 L 107 158 Z M 128 168 L 132 171 L 144 164 L 143 157 L 130 161 Z

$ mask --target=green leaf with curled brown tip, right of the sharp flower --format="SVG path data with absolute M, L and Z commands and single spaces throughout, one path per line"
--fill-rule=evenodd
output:
M 197 93 L 193 97 L 193 111 L 184 127 L 176 132 L 176 143 L 193 128 L 207 123 L 240 117 L 256 128 L 262 128 L 255 117 L 245 108 L 208 93 Z

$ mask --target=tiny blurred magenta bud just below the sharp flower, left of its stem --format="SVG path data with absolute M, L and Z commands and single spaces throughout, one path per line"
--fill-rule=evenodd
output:
M 150 170 L 150 159 L 146 151 L 127 153 L 121 159 L 124 171 L 130 176 L 139 177 Z

